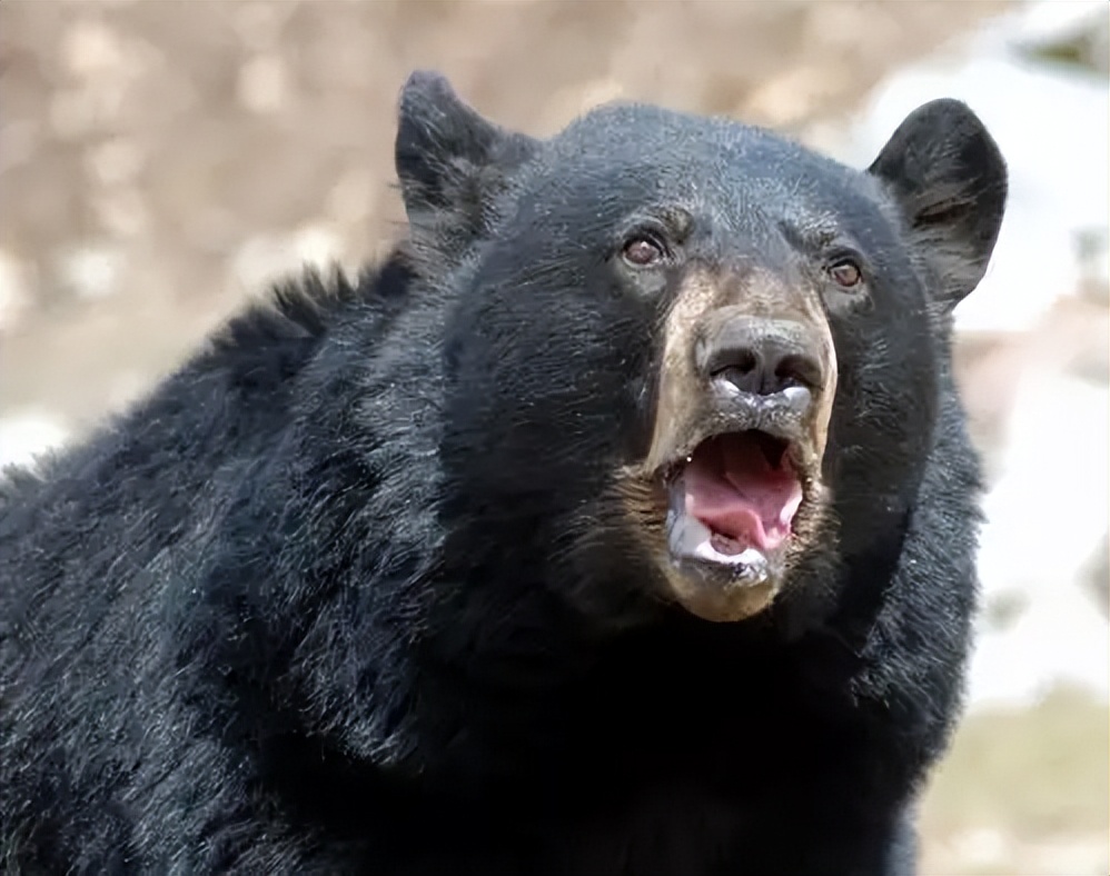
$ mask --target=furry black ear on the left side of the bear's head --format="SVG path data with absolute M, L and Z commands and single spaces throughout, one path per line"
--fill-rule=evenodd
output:
M 466 106 L 446 78 L 417 71 L 400 94 L 395 162 L 410 240 L 422 267 L 440 271 L 487 228 L 509 171 L 538 142 Z

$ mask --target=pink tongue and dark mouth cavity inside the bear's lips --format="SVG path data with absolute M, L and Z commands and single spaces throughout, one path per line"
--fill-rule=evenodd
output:
M 686 514 L 760 550 L 781 545 L 802 501 L 790 464 L 772 468 L 759 446 L 746 440 L 707 445 L 683 472 Z

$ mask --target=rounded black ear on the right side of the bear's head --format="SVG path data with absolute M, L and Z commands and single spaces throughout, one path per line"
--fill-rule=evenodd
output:
M 959 100 L 919 107 L 868 168 L 894 196 L 951 309 L 983 278 L 1007 198 L 1002 153 Z

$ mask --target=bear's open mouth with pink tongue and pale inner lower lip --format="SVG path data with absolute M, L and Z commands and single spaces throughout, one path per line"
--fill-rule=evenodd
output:
M 759 430 L 702 441 L 668 478 L 667 535 L 676 560 L 747 567 L 763 577 L 802 502 L 790 444 Z

